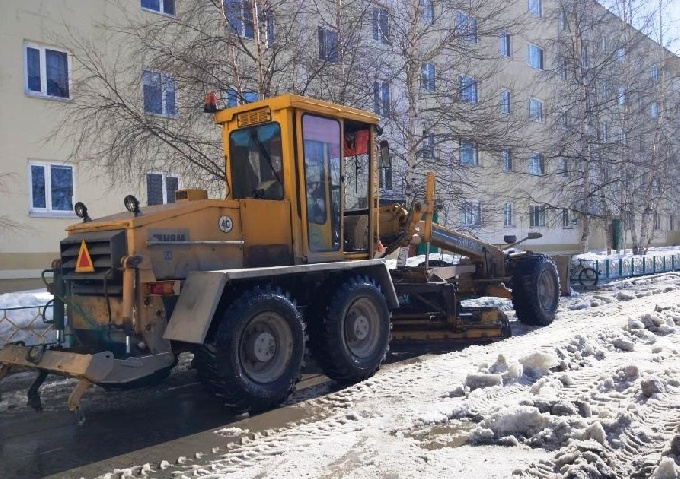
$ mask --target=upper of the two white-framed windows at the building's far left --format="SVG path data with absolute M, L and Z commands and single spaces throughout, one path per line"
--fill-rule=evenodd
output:
M 68 53 L 40 45 L 25 45 L 26 93 L 52 98 L 70 98 Z

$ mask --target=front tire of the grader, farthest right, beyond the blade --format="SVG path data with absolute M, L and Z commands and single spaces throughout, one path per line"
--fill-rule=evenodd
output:
M 547 326 L 555 319 L 559 300 L 555 263 L 542 254 L 519 258 L 512 274 L 512 304 L 517 319 L 531 326 Z

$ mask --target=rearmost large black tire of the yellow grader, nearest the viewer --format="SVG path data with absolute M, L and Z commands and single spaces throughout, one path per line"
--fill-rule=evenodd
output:
M 199 378 L 239 412 L 271 409 L 300 380 L 305 328 L 280 289 L 255 287 L 225 308 L 214 340 L 197 352 Z

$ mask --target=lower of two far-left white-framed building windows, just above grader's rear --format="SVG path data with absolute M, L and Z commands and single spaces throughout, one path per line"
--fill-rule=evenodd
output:
M 60 163 L 29 163 L 30 212 L 73 214 L 73 167 Z

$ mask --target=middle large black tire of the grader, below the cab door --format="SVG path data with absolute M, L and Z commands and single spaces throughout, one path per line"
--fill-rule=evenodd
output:
M 331 379 L 354 383 L 372 376 L 385 360 L 390 312 L 380 287 L 358 276 L 340 285 L 310 324 L 310 349 Z

